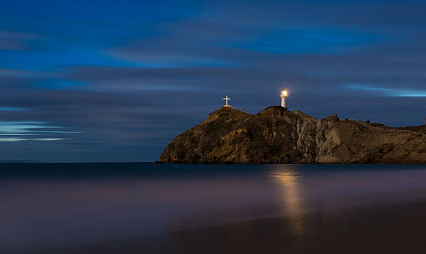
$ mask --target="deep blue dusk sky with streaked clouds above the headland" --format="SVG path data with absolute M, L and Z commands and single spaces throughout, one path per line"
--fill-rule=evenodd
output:
M 3 1 L 0 160 L 156 161 L 219 109 L 423 125 L 426 1 Z

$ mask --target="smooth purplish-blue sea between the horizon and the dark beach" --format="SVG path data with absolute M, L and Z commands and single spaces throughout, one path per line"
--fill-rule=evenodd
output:
M 425 199 L 426 166 L 0 164 L 0 253 Z

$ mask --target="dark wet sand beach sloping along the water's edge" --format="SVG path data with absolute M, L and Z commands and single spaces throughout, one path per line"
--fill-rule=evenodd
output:
M 426 253 L 426 202 L 345 207 L 301 216 L 172 230 L 33 253 Z

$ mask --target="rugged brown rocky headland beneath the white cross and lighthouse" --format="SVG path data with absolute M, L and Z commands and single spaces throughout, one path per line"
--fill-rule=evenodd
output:
M 385 131 L 336 115 L 317 119 L 281 106 L 251 115 L 224 106 L 175 137 L 160 161 L 424 164 L 426 141 L 423 135 Z

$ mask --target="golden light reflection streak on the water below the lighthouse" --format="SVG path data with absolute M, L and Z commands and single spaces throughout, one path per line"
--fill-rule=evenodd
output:
M 291 230 L 294 234 L 303 232 L 303 200 L 299 187 L 299 177 L 297 172 L 289 168 L 277 168 L 269 173 L 278 186 L 281 187 L 281 206 L 290 223 Z

